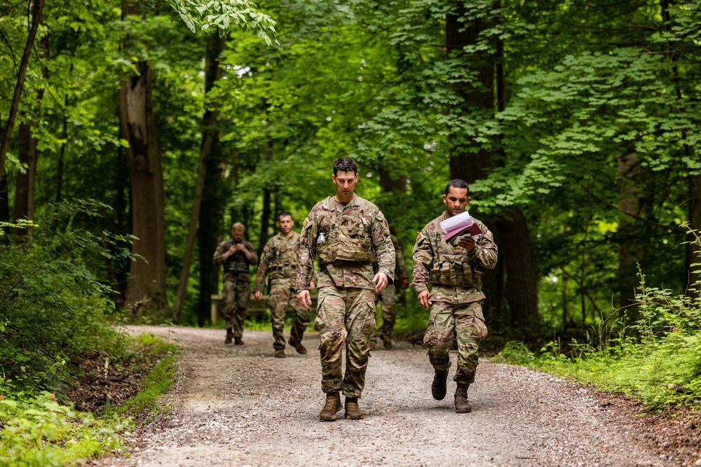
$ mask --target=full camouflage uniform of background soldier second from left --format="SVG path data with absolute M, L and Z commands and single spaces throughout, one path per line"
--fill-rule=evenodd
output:
M 256 283 L 253 291 L 263 292 L 266 274 L 270 279 L 270 301 L 268 306 L 273 320 L 273 337 L 275 350 L 285 349 L 285 312 L 287 305 L 292 302 L 294 309 L 294 322 L 290 330 L 290 344 L 294 346 L 302 342 L 304 330 L 309 324 L 309 310 L 304 309 L 297 298 L 292 294 L 292 289 L 297 278 L 297 260 L 299 259 L 299 234 L 292 231 L 289 238 L 285 238 L 282 232 L 268 240 L 261 262 L 258 266 Z

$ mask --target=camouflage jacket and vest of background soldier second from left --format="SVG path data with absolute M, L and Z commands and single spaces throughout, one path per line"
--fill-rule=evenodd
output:
M 271 281 L 296 279 L 300 238 L 300 235 L 293 230 L 289 238 L 283 237 L 283 233 L 278 232 L 268 240 L 261 253 L 253 291 L 263 291 L 266 274 Z

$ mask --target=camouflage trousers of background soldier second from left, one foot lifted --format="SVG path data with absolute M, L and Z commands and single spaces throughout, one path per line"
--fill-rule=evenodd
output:
M 273 348 L 275 350 L 285 349 L 285 314 L 287 314 L 287 305 L 291 304 L 294 309 L 294 321 L 292 321 L 292 329 L 290 330 L 290 344 L 299 344 L 302 342 L 304 331 L 309 324 L 309 310 L 304 309 L 297 301 L 297 296 L 292 293 L 290 287 L 291 280 L 275 281 L 270 286 L 270 300 L 268 306 L 272 314 L 273 321 Z

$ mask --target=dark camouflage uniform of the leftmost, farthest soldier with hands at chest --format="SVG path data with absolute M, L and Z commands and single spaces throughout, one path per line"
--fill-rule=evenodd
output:
M 224 288 L 224 316 L 226 328 L 233 328 L 233 337 L 241 338 L 243 335 L 243 323 L 246 319 L 246 307 L 251 296 L 251 283 L 248 276 L 248 266 L 258 263 L 258 255 L 250 242 L 242 240 L 243 246 L 250 251 L 251 259 L 246 258 L 243 251 L 237 251 L 224 260 L 224 253 L 231 248 L 233 239 L 222 242 L 215 251 L 215 264 L 224 264 L 222 281 Z

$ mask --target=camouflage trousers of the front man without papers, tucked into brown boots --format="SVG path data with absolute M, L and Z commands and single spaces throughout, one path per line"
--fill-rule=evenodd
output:
M 369 338 L 375 330 L 375 291 L 365 288 L 319 289 L 314 330 L 321 343 L 321 390 L 343 390 L 346 397 L 360 397 L 370 356 Z M 341 372 L 346 347 L 346 375 Z

